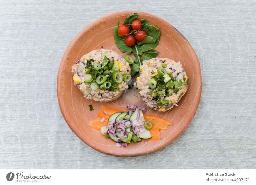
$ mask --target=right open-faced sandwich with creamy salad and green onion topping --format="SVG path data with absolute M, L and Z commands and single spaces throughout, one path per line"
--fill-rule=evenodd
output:
M 140 66 L 137 87 L 148 107 L 164 112 L 178 106 L 188 89 L 188 77 L 180 62 L 152 58 Z

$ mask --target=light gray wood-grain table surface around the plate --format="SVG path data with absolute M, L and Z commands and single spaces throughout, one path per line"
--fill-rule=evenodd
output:
M 255 1 L 0 1 L 0 168 L 254 168 Z M 196 116 L 171 145 L 120 158 L 84 144 L 65 123 L 56 76 L 69 42 L 116 11 L 175 26 L 201 64 Z

